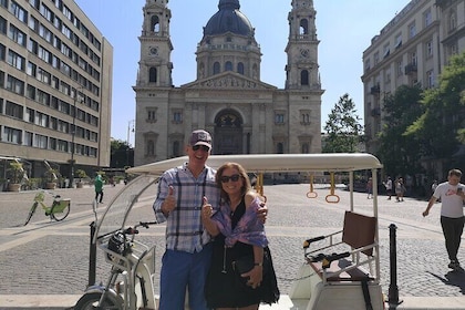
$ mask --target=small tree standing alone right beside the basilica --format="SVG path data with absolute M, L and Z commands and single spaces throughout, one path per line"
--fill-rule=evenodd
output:
M 363 126 L 356 115 L 355 104 L 344 94 L 328 115 L 324 126 L 328 136 L 323 153 L 355 153 L 363 137 Z

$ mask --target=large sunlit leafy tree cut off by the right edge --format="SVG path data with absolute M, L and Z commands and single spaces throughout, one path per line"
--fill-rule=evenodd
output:
M 465 53 L 452 56 L 438 86 L 424 91 L 424 112 L 406 130 L 426 146 L 423 155 L 445 165 L 465 143 Z

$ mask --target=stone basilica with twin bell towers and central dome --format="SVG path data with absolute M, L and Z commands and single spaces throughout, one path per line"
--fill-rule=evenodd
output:
M 239 0 L 219 0 L 197 45 L 197 78 L 174 86 L 168 0 L 146 0 L 136 85 L 134 164 L 185 155 L 190 132 L 213 135 L 211 154 L 321 152 L 316 10 L 292 0 L 285 89 L 261 82 L 260 45 Z M 286 18 L 286 16 L 283 16 Z M 199 30 L 200 31 L 200 30 Z M 194 56 L 194 55 L 193 55 Z

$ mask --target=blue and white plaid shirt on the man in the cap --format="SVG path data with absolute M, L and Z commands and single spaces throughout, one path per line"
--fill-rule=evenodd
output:
M 166 248 L 186 252 L 198 252 L 210 241 L 210 235 L 202 224 L 204 196 L 216 210 L 219 206 L 219 188 L 215 183 L 216 170 L 206 166 L 195 178 L 187 164 L 166 170 L 158 182 L 158 194 L 154 203 L 158 223 L 166 221 Z M 176 208 L 167 217 L 162 204 L 168 196 L 168 186 L 174 187 Z

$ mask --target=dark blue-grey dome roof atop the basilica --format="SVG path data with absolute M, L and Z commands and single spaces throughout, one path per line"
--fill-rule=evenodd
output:
M 239 0 L 219 0 L 216 12 L 204 28 L 204 35 L 232 32 L 241 35 L 254 35 L 254 28 L 239 9 Z

